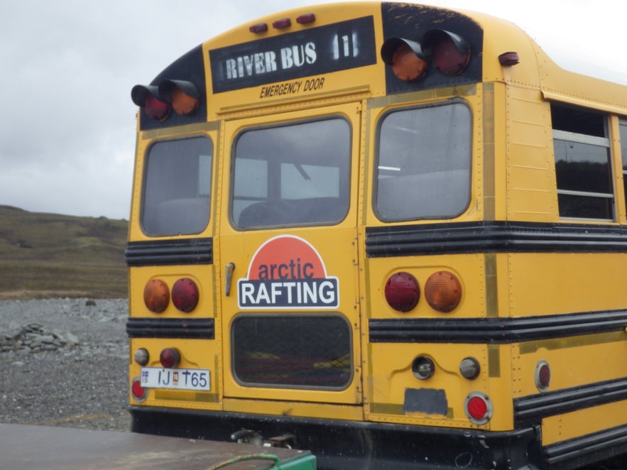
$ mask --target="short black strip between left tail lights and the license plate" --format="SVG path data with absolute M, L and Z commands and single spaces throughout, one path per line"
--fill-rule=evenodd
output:
M 213 318 L 129 318 L 129 338 L 214 339 Z

